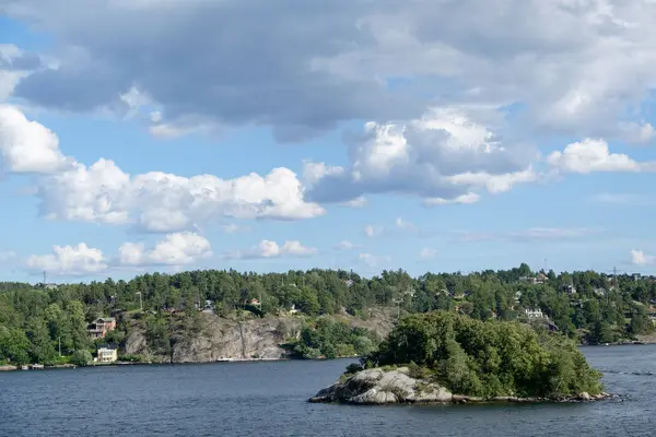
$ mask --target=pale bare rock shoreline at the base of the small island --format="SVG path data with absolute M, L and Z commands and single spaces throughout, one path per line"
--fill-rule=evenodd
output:
M 308 401 L 314 403 L 348 403 L 355 405 L 482 403 L 482 402 L 589 402 L 613 398 L 612 394 L 578 393 L 562 399 L 544 398 L 475 398 L 454 394 L 438 383 L 413 378 L 408 367 L 393 370 L 372 368 L 359 371 L 320 390 Z

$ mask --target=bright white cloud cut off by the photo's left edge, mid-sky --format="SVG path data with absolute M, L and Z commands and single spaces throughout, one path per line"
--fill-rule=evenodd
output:
M 51 130 L 0 104 L 0 166 L 13 173 L 52 173 L 70 165 Z

